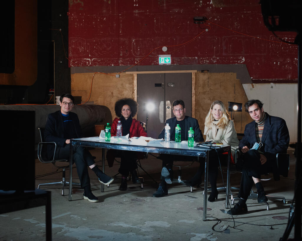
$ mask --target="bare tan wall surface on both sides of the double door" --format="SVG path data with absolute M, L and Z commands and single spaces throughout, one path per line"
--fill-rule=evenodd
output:
M 93 73 L 77 73 L 71 75 L 72 95 L 82 96 L 82 103 L 88 101 L 92 85 L 89 103 L 104 105 L 111 111 L 111 120 L 115 118 L 114 104 L 120 98 L 133 98 L 137 95 L 137 75 L 121 73 L 120 78 L 115 74 L 106 75 Z M 204 132 L 204 119 L 214 100 L 221 100 L 226 106 L 228 101 L 245 103 L 247 97 L 240 80 L 236 79 L 236 73 L 202 73 L 198 71 L 192 74 L 192 107 L 193 117 Z M 108 118 L 106 118 L 108 120 Z M 234 114 L 234 122 L 237 133 L 243 133 L 247 123 L 252 121 L 245 111 Z

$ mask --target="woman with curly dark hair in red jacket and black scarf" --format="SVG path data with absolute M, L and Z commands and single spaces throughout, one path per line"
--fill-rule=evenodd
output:
M 142 125 L 139 121 L 132 118 L 137 113 L 137 102 L 130 98 L 119 99 L 115 102 L 114 111 L 117 117 L 113 120 L 111 125 L 111 136 L 116 136 L 116 129 L 118 121 L 122 124 L 122 135 L 126 136 L 129 134 L 131 137 L 140 137 L 147 136 L 147 133 L 144 131 Z M 120 168 L 118 172 L 122 174 L 122 182 L 120 184 L 120 190 L 127 190 L 127 177 L 129 172 L 131 173 L 132 182 L 140 183 L 140 179 L 137 176 L 137 152 L 133 151 L 124 151 L 124 150 L 108 150 L 107 160 L 114 157 L 120 157 Z

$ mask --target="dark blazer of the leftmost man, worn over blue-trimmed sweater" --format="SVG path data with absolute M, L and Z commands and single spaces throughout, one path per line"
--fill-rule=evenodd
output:
M 78 115 L 76 113 L 69 112 L 69 116 L 76 129 L 76 136 L 74 136 L 73 138 L 82 137 L 82 130 Z M 64 123 L 61 110 L 51 113 L 47 116 L 44 131 L 44 141 L 56 142 L 56 144 L 61 147 L 64 147 L 66 145 L 66 139 L 64 138 Z M 53 151 L 54 145 L 48 145 L 47 153 L 49 156 L 53 155 Z

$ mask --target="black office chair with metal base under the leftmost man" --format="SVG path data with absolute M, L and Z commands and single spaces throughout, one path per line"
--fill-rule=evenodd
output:
M 62 181 L 60 182 L 52 182 L 52 183 L 40 183 L 38 185 L 38 189 L 40 189 L 40 186 L 45 186 L 45 185 L 62 185 L 62 196 L 64 196 L 64 186 L 69 185 L 69 182 L 66 181 L 65 178 L 65 171 L 66 168 L 69 167 L 69 160 L 68 159 L 55 159 L 55 153 L 56 153 L 56 142 L 44 142 L 43 141 L 43 136 L 44 136 L 44 130 L 45 128 L 43 127 L 38 127 L 38 130 L 40 132 L 40 138 L 41 138 L 41 142 L 38 143 L 38 158 L 39 161 L 42 163 L 52 163 L 55 167 L 57 168 L 62 168 Z M 55 150 L 53 153 L 53 157 L 52 159 L 48 159 L 47 158 L 47 145 L 54 145 L 55 146 Z M 57 166 L 56 162 L 66 162 L 66 166 Z M 72 185 L 77 185 L 77 186 L 81 186 L 81 183 L 72 183 Z

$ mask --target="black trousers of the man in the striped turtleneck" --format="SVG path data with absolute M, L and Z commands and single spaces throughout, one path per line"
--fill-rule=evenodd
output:
M 254 184 L 252 177 L 260 178 L 261 174 L 273 171 L 273 164 L 276 162 L 275 155 L 266 153 L 265 157 L 267 161 L 262 165 L 258 151 L 253 149 L 243 154 L 239 198 L 245 200 L 248 198 Z

